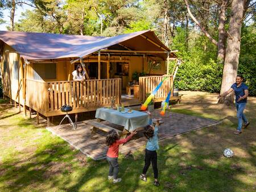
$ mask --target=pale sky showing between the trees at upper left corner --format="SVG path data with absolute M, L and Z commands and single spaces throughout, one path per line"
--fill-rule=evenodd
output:
M 15 16 L 14 16 L 14 22 L 18 22 L 20 19 L 21 13 L 25 12 L 27 9 L 32 10 L 34 9 L 31 6 L 23 5 L 22 7 L 18 6 L 15 10 Z M 0 31 L 6 31 L 6 27 L 10 25 L 10 10 L 4 10 L 3 11 L 3 20 L 6 21 L 7 24 L 0 24 Z

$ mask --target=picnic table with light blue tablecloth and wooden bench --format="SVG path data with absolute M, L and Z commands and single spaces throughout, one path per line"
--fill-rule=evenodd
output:
M 95 118 L 97 118 L 96 122 L 90 121 L 88 124 L 91 124 L 93 128 L 98 128 L 105 132 L 116 129 L 100 123 L 100 120 L 106 120 L 107 122 L 118 124 L 119 126 L 123 126 L 123 136 L 137 128 L 147 126 L 149 120 L 148 114 L 135 110 L 133 110 L 132 113 L 128 113 L 127 111 L 128 108 L 125 108 L 125 112 L 119 112 L 112 108 L 97 108 L 95 115 Z

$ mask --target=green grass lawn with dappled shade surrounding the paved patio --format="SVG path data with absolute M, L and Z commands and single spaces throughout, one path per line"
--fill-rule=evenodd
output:
M 46 124 L 24 118 L 0 100 L 0 191 L 255 191 L 256 129 L 255 98 L 249 99 L 246 115 L 251 126 L 241 135 L 236 130 L 234 107 L 210 103 L 212 94 L 184 95 L 171 111 L 224 123 L 193 131 L 160 143 L 160 186 L 139 180 L 143 148 L 119 156 L 122 182 L 108 181 L 106 160 L 93 161 L 46 130 Z M 208 107 L 205 107 L 208 106 Z M 231 148 L 233 158 L 222 151 Z

